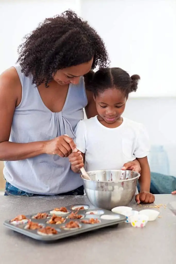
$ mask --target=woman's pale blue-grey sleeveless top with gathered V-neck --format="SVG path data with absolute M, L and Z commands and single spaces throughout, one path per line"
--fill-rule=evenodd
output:
M 83 77 L 70 84 L 62 111 L 52 112 L 43 103 L 32 77 L 25 77 L 15 67 L 22 85 L 22 99 L 16 107 L 9 141 L 28 143 L 54 139 L 67 134 L 75 138 L 74 129 L 84 118 L 87 96 Z M 34 194 L 55 195 L 74 190 L 83 184 L 70 169 L 68 158 L 42 154 L 20 161 L 4 162 L 4 177 L 13 186 Z

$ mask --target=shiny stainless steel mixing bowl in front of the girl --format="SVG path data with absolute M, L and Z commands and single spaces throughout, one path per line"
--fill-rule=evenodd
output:
M 89 201 L 97 207 L 111 210 L 116 206 L 126 206 L 136 192 L 140 174 L 134 171 L 106 169 L 87 172 L 91 180 L 84 179 L 85 193 Z

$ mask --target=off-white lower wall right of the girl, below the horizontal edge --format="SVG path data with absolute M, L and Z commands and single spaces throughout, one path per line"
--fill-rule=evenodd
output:
M 152 146 L 163 146 L 169 158 L 170 175 L 176 176 L 176 98 L 129 98 L 123 114 L 145 125 Z M 160 158 L 160 154 L 158 155 Z M 161 161 L 162 162 L 162 161 Z M 165 163 L 166 161 L 164 161 Z M 157 165 L 157 164 L 156 164 Z M 165 173 L 166 164 L 156 172 Z M 154 169 L 152 169 L 154 171 Z

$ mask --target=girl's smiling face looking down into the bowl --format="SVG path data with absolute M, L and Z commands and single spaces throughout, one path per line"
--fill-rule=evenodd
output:
M 107 89 L 94 97 L 97 112 L 108 123 L 115 123 L 125 110 L 127 97 L 118 89 Z

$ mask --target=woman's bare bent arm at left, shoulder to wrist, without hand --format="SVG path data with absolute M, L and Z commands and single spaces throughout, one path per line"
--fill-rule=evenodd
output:
M 15 161 L 31 158 L 43 153 L 41 142 L 14 143 L 9 142 L 15 107 L 22 96 L 20 79 L 15 68 L 6 70 L 0 76 L 0 160 Z

